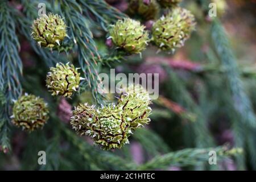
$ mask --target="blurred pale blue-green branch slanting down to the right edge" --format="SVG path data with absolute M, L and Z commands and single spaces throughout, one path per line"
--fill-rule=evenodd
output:
M 242 122 L 256 127 L 256 118 L 253 113 L 251 102 L 246 96 L 240 79 L 240 73 L 236 64 L 236 58 L 220 22 L 216 19 L 212 24 L 212 39 L 221 63 L 225 68 L 225 75 L 228 78 L 228 84 L 232 90 L 234 107 L 242 116 Z

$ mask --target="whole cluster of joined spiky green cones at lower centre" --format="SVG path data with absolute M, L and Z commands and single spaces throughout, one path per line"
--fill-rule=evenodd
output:
M 128 93 L 129 92 L 129 93 Z M 95 144 L 109 150 L 121 148 L 129 143 L 132 130 L 147 124 L 150 119 L 150 104 L 145 90 L 129 87 L 119 98 L 117 105 L 106 105 L 97 109 L 80 104 L 73 111 L 71 125 L 80 135 L 89 135 Z

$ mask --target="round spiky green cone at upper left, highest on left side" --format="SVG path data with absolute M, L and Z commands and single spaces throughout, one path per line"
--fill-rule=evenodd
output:
M 66 25 L 59 15 L 49 13 L 34 20 L 31 35 L 39 46 L 55 48 L 60 46 L 65 36 L 67 36 Z

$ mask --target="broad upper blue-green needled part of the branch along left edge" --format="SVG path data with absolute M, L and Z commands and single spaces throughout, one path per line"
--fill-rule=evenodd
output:
M 5 90 L 7 104 L 18 98 L 22 88 L 19 76 L 22 74 L 22 61 L 19 57 L 19 41 L 15 32 L 14 9 L 7 5 L 7 2 L 1 2 L 0 7 L 0 86 Z

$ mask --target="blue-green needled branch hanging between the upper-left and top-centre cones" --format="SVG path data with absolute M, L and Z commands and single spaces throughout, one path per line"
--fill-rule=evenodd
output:
M 59 5 L 60 14 L 65 17 L 65 22 L 69 26 L 68 35 L 77 44 L 78 60 L 86 82 L 92 90 L 93 97 L 99 104 L 102 104 L 104 96 L 97 92 L 97 86 L 101 82 L 98 77 L 101 57 L 89 29 L 88 20 L 82 15 L 82 7 L 73 0 L 53 1 L 52 3 Z

